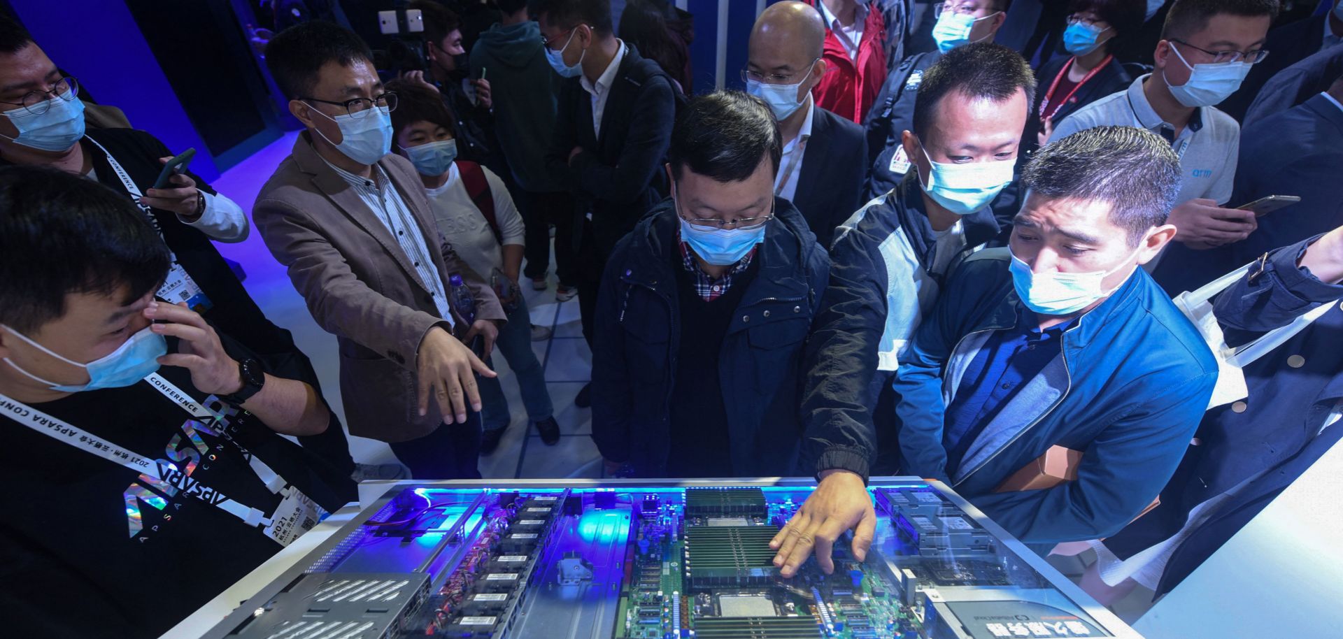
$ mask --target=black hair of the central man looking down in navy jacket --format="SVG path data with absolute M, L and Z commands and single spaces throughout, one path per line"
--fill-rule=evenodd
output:
M 751 177 L 766 157 L 778 175 L 782 156 L 783 136 L 764 101 L 714 91 L 692 99 L 677 115 L 667 161 L 677 179 L 689 166 L 696 175 L 735 183 Z

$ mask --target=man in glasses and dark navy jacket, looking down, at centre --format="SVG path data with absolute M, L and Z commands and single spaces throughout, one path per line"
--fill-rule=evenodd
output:
M 670 199 L 616 246 L 598 298 L 592 439 L 608 471 L 791 475 L 802 346 L 830 260 L 774 193 L 770 107 L 696 98 L 672 133 Z

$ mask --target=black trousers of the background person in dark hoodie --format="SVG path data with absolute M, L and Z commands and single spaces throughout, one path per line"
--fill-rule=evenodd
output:
M 517 207 L 526 223 L 524 240 L 526 266 L 522 275 L 541 278 L 551 267 L 551 231 L 555 224 L 555 275 L 561 285 L 575 286 L 579 281 L 573 243 L 573 196 L 563 192 L 535 192 L 521 188 Z

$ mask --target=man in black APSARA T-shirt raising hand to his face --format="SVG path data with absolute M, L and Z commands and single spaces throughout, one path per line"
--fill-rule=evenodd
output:
M 317 392 L 156 299 L 171 258 L 124 195 L 0 168 L 0 507 L 59 503 L 0 525 L 8 635 L 157 636 L 355 498 L 281 436 Z

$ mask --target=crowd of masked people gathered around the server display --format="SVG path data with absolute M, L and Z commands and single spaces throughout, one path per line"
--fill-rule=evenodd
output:
M 1162 595 L 1343 436 L 1343 0 L 1069 0 L 1022 50 L 1011 0 L 779 1 L 744 91 L 696 90 L 674 3 L 623 4 L 414 0 L 396 74 L 290 20 L 265 63 L 302 130 L 250 216 L 0 20 L 26 634 L 157 635 L 355 481 L 479 478 L 496 348 L 555 444 L 522 294 L 552 263 L 610 474 L 817 478 L 784 576 L 849 530 L 862 558 L 901 474 L 1093 549 L 1103 601 Z M 337 338 L 344 426 L 214 246 L 252 226 Z

